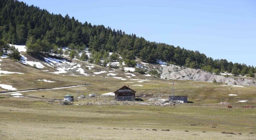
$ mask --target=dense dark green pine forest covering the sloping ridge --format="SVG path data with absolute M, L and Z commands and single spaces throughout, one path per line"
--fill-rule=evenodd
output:
M 18 0 L 0 0 L 0 39 L 2 54 L 10 50 L 5 49 L 3 44 L 6 43 L 26 44 L 30 54 L 57 53 L 60 50 L 58 48 L 68 46 L 73 57 L 88 47 L 98 60 L 106 58 L 106 52 L 116 52 L 132 66 L 138 57 L 144 62 L 154 63 L 160 59 L 168 64 L 201 68 L 215 74 L 231 72 L 234 75 L 254 77 L 255 72 L 254 66 L 232 63 L 226 59 L 213 60 L 199 51 L 150 42 L 136 34 L 126 34 L 122 30 L 112 30 L 103 25 L 81 23 L 68 14 L 64 17 L 61 14 L 50 14 L 45 9 L 28 6 Z

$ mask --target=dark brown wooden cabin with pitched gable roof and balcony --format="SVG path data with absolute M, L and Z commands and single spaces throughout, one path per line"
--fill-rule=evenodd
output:
M 117 101 L 134 101 L 136 91 L 130 89 L 128 86 L 123 86 L 122 88 L 116 90 L 115 100 Z

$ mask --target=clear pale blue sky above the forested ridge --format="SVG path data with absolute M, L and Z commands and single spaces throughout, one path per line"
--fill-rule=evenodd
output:
M 255 0 L 22 0 L 80 22 L 256 66 Z

